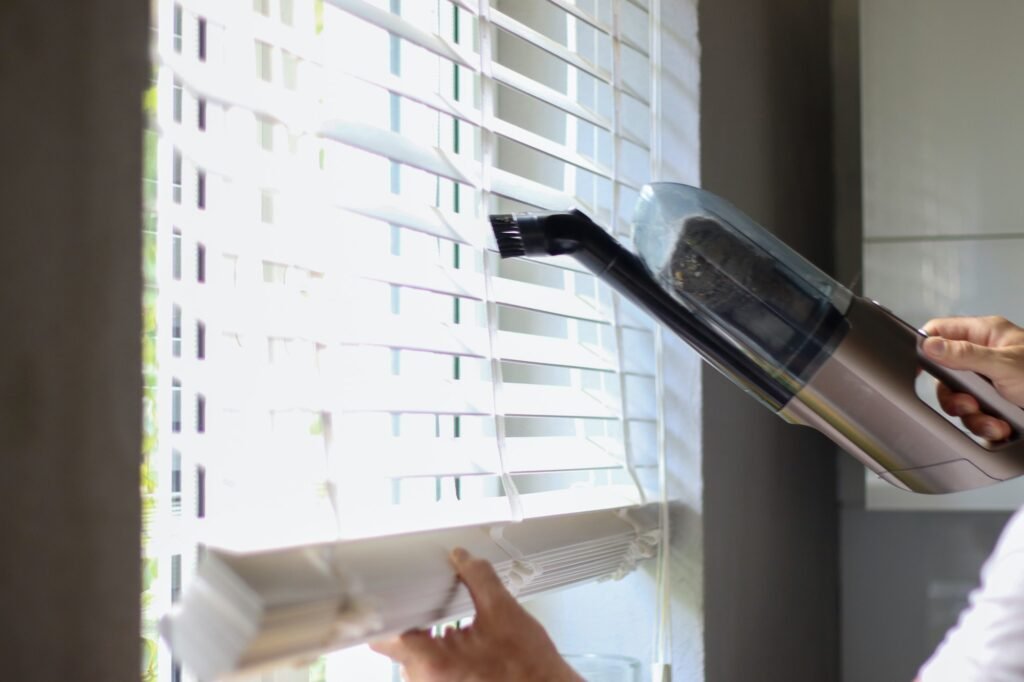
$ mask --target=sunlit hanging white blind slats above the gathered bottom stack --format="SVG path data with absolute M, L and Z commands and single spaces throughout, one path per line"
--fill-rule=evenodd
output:
M 197 538 L 641 503 L 651 323 L 570 260 L 500 261 L 485 218 L 575 206 L 628 239 L 645 3 L 159 4 L 157 233 L 204 259 L 161 269 L 158 316 L 203 329 L 161 364 L 183 413 L 161 452 L 203 468 Z

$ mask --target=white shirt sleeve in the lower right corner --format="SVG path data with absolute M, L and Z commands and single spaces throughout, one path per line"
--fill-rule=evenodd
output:
M 921 682 L 1024 681 L 1024 508 L 981 569 L 981 586 L 920 672 Z

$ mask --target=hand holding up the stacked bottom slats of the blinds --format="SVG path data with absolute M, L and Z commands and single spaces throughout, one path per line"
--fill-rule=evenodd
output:
M 473 597 L 473 625 L 441 637 L 414 630 L 370 645 L 400 664 L 408 682 L 583 682 L 489 562 L 456 549 L 452 565 Z

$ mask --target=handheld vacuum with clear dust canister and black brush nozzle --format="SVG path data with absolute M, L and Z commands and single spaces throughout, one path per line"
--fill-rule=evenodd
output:
M 1024 410 L 921 350 L 924 333 L 854 296 L 732 205 L 683 184 L 641 193 L 635 253 L 579 211 L 490 216 L 501 255 L 568 255 L 794 424 L 898 487 L 951 493 L 1024 474 Z M 920 368 L 1006 420 L 979 442 L 921 400 Z

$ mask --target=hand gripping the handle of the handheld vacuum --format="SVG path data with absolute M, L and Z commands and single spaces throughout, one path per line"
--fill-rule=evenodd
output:
M 925 353 L 951 370 L 970 370 L 987 377 L 1002 397 L 1024 407 L 1024 329 L 1005 317 L 943 317 L 925 325 Z M 940 383 L 939 404 L 976 435 L 988 440 L 1009 438 L 1010 425 L 981 412 L 974 396 Z

